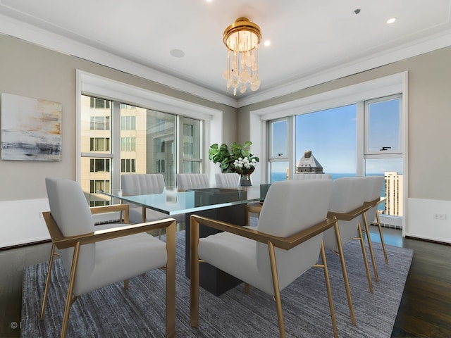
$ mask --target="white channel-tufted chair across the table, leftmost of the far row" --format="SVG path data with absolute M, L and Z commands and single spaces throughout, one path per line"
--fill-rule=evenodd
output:
M 161 174 L 121 175 L 123 196 L 161 194 L 164 188 L 164 177 Z M 182 216 L 175 218 L 175 220 L 177 222 L 185 222 L 185 216 Z M 161 220 L 163 218 L 168 218 L 168 215 L 144 206 L 130 204 L 130 223 L 151 222 L 152 220 Z

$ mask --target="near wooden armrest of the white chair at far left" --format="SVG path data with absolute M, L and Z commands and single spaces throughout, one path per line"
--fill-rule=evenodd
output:
M 176 224 L 173 218 L 165 218 L 154 222 L 124 225 L 123 227 L 112 227 L 110 229 L 97 230 L 87 234 L 80 234 L 78 236 L 64 237 L 58 229 L 58 225 L 56 225 L 54 218 L 51 217 L 51 213 L 49 211 L 45 211 L 42 215 L 44 215 L 45 223 L 49 229 L 51 242 L 53 242 L 58 249 L 66 249 L 71 246 L 75 246 L 78 242 L 80 242 L 80 245 L 90 244 L 105 241 L 107 239 L 129 236 L 130 234 L 139 234 L 150 230 L 168 228 L 171 227 L 171 225 L 175 229 Z

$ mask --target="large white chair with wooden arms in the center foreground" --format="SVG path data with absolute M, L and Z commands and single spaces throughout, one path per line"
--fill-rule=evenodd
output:
M 304 271 L 320 266 L 324 269 L 336 337 L 338 332 L 322 244 L 323 231 L 335 223 L 326 219 L 331 188 L 331 180 L 290 180 L 271 184 L 261 208 L 258 230 L 192 215 L 191 326 L 199 325 L 199 260 L 274 296 L 280 337 L 285 337 L 280 291 Z M 199 239 L 199 224 L 224 232 Z M 322 264 L 317 265 L 320 255 Z

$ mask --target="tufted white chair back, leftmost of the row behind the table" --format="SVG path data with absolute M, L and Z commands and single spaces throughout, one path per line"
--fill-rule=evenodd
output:
M 164 177 L 161 174 L 122 174 L 123 196 L 161 194 L 164 190 Z

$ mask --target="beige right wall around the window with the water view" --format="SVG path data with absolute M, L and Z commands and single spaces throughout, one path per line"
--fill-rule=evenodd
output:
M 404 71 L 409 80 L 408 197 L 451 201 L 451 47 L 240 108 L 238 138 L 249 138 L 249 111 Z

